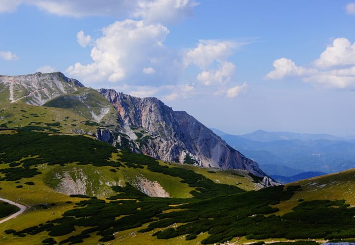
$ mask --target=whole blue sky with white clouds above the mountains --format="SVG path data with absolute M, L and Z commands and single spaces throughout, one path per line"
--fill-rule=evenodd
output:
M 230 134 L 355 136 L 351 0 L 0 0 L 0 74 L 60 71 Z

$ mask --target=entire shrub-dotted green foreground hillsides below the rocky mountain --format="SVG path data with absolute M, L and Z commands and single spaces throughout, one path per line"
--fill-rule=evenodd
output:
M 0 224 L 6 244 L 355 237 L 354 170 L 245 192 L 261 179 L 157 161 L 86 136 L 0 132 L 0 195 L 28 207 Z

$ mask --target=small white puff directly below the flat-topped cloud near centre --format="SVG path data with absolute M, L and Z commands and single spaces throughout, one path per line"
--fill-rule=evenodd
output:
M 202 71 L 197 75 L 197 80 L 209 86 L 214 83 L 226 83 L 236 71 L 236 66 L 231 62 L 220 62 L 218 70 Z

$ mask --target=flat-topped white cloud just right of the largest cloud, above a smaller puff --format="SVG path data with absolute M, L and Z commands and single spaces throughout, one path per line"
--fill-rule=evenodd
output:
M 240 44 L 231 41 L 200 40 L 196 48 L 185 51 L 184 65 L 195 64 L 206 69 L 215 60 L 225 61 L 237 46 Z

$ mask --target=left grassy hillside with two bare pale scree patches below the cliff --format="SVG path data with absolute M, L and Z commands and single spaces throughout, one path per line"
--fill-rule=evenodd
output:
M 0 131 L 0 196 L 31 207 L 1 225 L 2 232 L 60 217 L 80 200 L 69 195 L 115 195 L 112 186 L 132 186 L 136 190 L 133 194 L 138 196 L 173 198 L 206 198 L 264 187 L 255 176 L 241 170 L 158 162 L 141 154 L 118 151 L 90 137 L 31 129 Z M 35 130 L 39 129 L 38 126 Z M 29 241 L 41 242 L 41 237 Z M 11 241 L 21 242 L 12 235 L 8 242 Z

